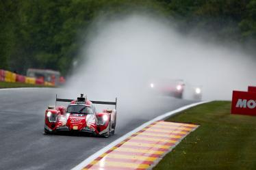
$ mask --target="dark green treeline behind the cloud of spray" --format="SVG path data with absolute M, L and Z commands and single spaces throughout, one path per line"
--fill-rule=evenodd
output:
M 256 44 L 256 0 L 0 0 L 0 68 L 66 75 L 94 18 L 136 11 L 176 20 L 183 33 L 205 30 L 218 40 Z

